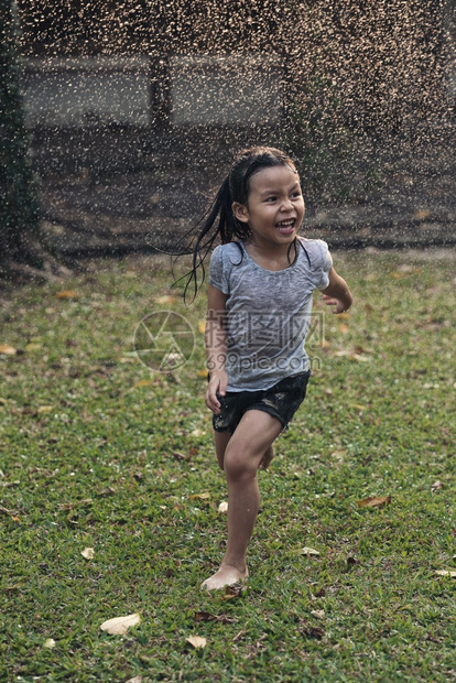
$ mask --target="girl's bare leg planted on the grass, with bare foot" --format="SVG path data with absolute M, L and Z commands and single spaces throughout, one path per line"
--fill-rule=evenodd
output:
M 228 543 L 220 568 L 202 584 L 208 590 L 243 581 L 249 574 L 247 544 L 260 507 L 257 469 L 281 431 L 282 424 L 269 413 L 249 410 L 227 440 L 224 469 L 228 484 Z

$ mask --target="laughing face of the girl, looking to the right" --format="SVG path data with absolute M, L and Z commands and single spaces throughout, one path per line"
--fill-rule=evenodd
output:
M 297 173 L 289 165 L 270 166 L 254 173 L 249 185 L 247 205 L 232 205 L 235 216 L 249 225 L 258 247 L 287 249 L 304 218 Z

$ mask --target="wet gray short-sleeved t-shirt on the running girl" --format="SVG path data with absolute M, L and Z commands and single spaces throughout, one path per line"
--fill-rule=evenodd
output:
M 213 252 L 209 283 L 228 295 L 228 391 L 269 389 L 310 368 L 312 294 L 328 286 L 333 259 L 323 240 L 298 239 L 296 260 L 279 271 L 256 263 L 242 241 Z

